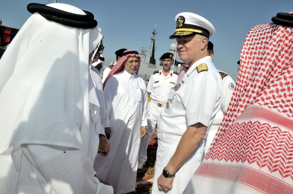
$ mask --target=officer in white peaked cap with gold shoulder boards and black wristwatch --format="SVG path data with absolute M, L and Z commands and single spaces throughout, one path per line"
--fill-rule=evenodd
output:
M 193 193 L 190 181 L 204 155 L 207 136 L 222 101 L 222 79 L 207 54 L 215 30 L 194 13 L 175 17 L 180 59 L 188 71 L 168 93 L 158 119 L 158 149 L 152 193 Z

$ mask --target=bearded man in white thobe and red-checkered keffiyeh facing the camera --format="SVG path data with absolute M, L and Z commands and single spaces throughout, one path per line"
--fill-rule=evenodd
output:
M 139 144 L 147 136 L 148 117 L 146 84 L 136 74 L 139 55 L 133 50 L 123 54 L 104 82 L 111 150 L 107 157 L 97 155 L 95 160 L 98 177 L 111 182 L 120 194 L 135 190 Z

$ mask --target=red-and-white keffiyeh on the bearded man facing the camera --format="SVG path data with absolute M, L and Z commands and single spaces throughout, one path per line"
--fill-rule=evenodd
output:
M 129 52 L 129 51 L 134 51 L 134 50 L 128 49 L 128 50 L 124 51 L 123 53 L 125 53 L 125 52 Z M 138 74 L 139 66 L 140 66 L 140 56 L 139 56 L 138 54 L 134 54 L 134 53 L 131 53 L 131 54 L 128 54 L 128 55 L 124 55 L 124 56 L 122 56 L 122 57 L 119 58 L 119 60 L 117 61 L 116 65 L 114 65 L 114 66 L 112 67 L 112 69 L 110 70 L 110 72 L 109 72 L 108 76 L 106 77 L 105 82 L 104 82 L 104 84 L 103 84 L 103 90 L 104 90 L 104 88 L 105 88 L 106 82 L 107 82 L 107 80 L 109 79 L 109 77 L 111 77 L 112 75 L 114 75 L 114 74 L 116 74 L 116 73 L 119 73 L 119 72 L 121 72 L 121 71 L 124 70 L 124 66 L 125 66 L 125 64 L 123 64 L 123 63 L 124 63 L 125 60 L 127 60 L 127 58 L 130 57 L 130 56 L 132 56 L 132 57 L 137 57 L 137 58 L 138 58 L 138 66 L 137 66 L 137 70 L 136 70 L 136 72 L 135 72 L 135 74 Z

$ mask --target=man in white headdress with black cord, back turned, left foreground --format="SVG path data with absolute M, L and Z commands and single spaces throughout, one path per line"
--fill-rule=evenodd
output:
M 99 138 L 88 70 L 102 39 L 97 22 L 67 4 L 27 8 L 34 14 L 0 60 L 1 193 L 113 193 L 92 167 Z

